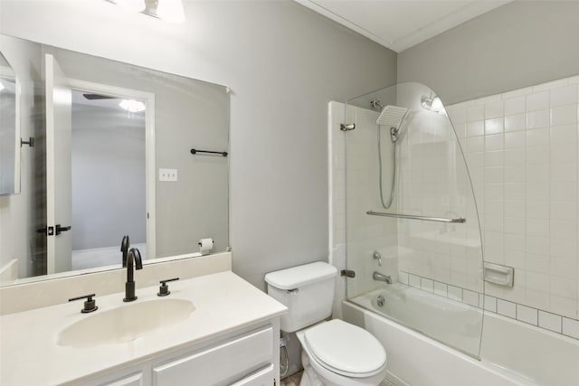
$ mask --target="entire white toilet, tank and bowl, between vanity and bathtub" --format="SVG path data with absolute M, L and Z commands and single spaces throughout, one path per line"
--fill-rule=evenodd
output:
M 378 385 L 386 376 L 386 352 L 374 335 L 332 314 L 337 268 L 325 262 L 270 272 L 268 294 L 287 306 L 280 328 L 296 333 L 304 373 L 299 386 Z

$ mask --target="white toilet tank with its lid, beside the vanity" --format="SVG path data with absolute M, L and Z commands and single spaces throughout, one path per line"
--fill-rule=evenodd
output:
M 268 294 L 288 307 L 281 330 L 292 333 L 331 315 L 336 277 L 337 268 L 322 261 L 265 275 Z

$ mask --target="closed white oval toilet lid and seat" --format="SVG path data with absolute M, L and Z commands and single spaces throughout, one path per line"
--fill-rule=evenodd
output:
M 384 347 L 374 335 L 356 325 L 334 319 L 309 328 L 304 337 L 319 364 L 332 372 L 360 378 L 384 369 Z

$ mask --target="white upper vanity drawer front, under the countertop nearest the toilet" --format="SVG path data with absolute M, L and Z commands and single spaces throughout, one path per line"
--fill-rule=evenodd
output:
M 154 367 L 153 385 L 231 384 L 271 363 L 272 356 L 273 328 L 267 327 Z

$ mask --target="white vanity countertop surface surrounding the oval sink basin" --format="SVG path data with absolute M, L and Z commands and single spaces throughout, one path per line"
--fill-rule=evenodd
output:
M 104 375 L 266 321 L 287 310 L 231 271 L 178 280 L 169 283 L 169 288 L 169 298 L 188 299 L 195 311 L 177 325 L 124 344 L 73 348 L 56 343 L 64 328 L 90 317 L 81 314 L 82 300 L 1 316 L 0 384 L 52 385 Z M 158 286 L 138 288 L 135 302 L 158 299 L 157 292 Z M 126 305 L 123 297 L 124 293 L 99 297 L 97 292 L 96 313 Z

